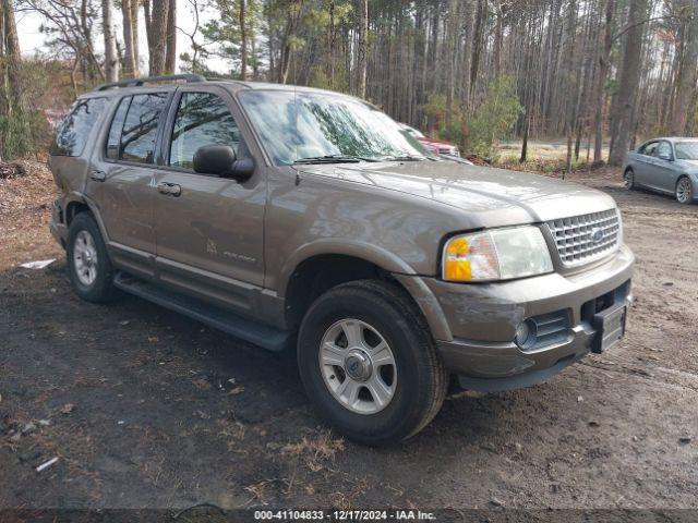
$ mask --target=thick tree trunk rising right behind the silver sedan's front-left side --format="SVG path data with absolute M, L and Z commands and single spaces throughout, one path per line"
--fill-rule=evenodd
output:
M 628 31 L 625 36 L 623 66 L 618 84 L 616 101 L 616 134 L 613 149 L 609 155 L 609 163 L 621 166 L 630 145 L 630 134 L 635 121 L 635 105 L 640 80 L 640 51 L 645 33 L 648 0 L 630 0 Z

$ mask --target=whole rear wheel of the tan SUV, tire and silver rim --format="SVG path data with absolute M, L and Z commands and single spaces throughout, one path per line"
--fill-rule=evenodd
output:
M 80 297 L 101 303 L 118 296 L 107 247 L 89 212 L 80 212 L 71 222 L 65 254 L 70 281 Z

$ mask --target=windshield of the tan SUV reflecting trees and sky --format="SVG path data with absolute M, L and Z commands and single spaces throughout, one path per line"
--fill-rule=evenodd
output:
M 277 166 L 435 158 L 389 117 L 359 100 L 279 90 L 245 90 L 239 97 Z

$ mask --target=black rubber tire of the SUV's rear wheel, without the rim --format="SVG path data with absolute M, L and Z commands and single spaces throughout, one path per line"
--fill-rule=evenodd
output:
M 85 285 L 80 281 L 75 272 L 75 263 L 73 259 L 75 239 L 83 230 L 92 235 L 97 251 L 97 277 L 91 285 Z M 99 227 L 88 212 L 79 214 L 71 222 L 68 230 L 65 257 L 68 260 L 70 281 L 80 297 L 89 302 L 104 302 L 113 296 L 113 270 L 111 262 L 109 260 L 109 254 L 107 253 Z

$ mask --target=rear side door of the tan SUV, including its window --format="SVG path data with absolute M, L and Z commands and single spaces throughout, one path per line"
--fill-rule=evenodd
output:
M 171 96 L 165 90 L 140 92 L 118 101 L 85 191 L 99 209 L 115 264 L 151 278 L 156 144 Z

